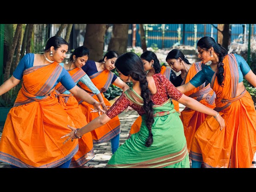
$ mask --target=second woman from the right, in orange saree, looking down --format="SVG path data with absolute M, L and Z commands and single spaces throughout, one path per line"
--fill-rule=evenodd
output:
M 202 62 L 190 64 L 188 59 L 178 49 L 173 49 L 168 53 L 166 62 L 171 66 L 172 70 L 176 72 L 181 71 L 181 74 L 177 76 L 175 80 L 175 86 L 180 86 L 189 82 L 205 66 L 205 64 Z M 190 90 L 184 94 L 199 101 L 209 108 L 215 108 L 214 99 L 216 98 L 216 94 L 212 88 L 210 88 L 209 83 L 206 84 L 205 82 L 197 88 L 194 88 L 193 90 Z M 184 126 L 184 134 L 186 136 L 188 152 L 190 152 L 190 146 L 194 134 L 208 115 L 187 107 L 185 107 L 180 114 L 180 118 Z

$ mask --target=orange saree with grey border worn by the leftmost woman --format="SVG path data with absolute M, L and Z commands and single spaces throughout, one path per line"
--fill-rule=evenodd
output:
M 63 144 L 67 124 L 74 126 L 51 90 L 62 67 L 54 62 L 24 70 L 22 88 L 7 115 L 0 161 L 21 168 L 54 168 L 78 151 L 78 141 Z M 36 77 L 36 78 L 35 78 Z

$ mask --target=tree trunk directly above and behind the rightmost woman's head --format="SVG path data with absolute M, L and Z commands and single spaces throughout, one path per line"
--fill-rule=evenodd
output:
M 218 24 L 218 43 L 221 44 L 226 50 L 230 45 L 231 34 L 230 24 Z

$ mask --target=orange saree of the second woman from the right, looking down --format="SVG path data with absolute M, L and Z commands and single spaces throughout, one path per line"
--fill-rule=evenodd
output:
M 187 82 L 189 82 L 200 70 L 202 70 L 202 62 L 193 63 L 184 80 L 182 81 L 182 84 L 186 84 Z M 214 100 L 216 98 L 216 94 L 214 93 L 212 88 L 210 88 L 210 84 L 205 86 L 204 83 L 201 86 L 194 88 L 184 94 L 197 100 L 201 104 L 211 109 L 215 108 Z M 196 130 L 202 124 L 202 122 L 204 122 L 207 116 L 207 114 L 192 110 L 187 107 L 184 108 L 184 110 L 182 110 L 182 112 L 180 113 L 180 119 L 183 123 L 184 134 L 187 140 L 188 152 L 190 152 L 190 146 L 192 144 L 192 140 Z

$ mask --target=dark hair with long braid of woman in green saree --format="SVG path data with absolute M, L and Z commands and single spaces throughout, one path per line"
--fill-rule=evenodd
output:
M 154 123 L 154 113 L 151 92 L 148 89 L 147 75 L 146 72 L 144 72 L 142 60 L 135 53 L 127 52 L 117 58 L 115 66 L 125 76 L 130 75 L 134 80 L 140 82 L 141 96 L 144 101 L 143 109 L 146 112 L 146 122 L 149 131 L 145 146 L 149 147 L 153 143 L 151 126 Z

